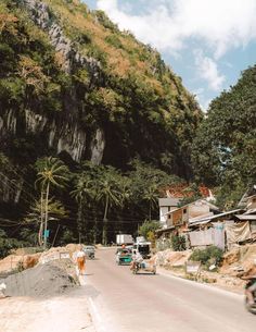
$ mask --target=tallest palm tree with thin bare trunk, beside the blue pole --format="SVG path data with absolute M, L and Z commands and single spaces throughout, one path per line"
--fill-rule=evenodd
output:
M 48 157 L 41 158 L 37 161 L 36 168 L 38 170 L 38 179 L 36 184 L 40 184 L 41 189 L 41 211 L 44 208 L 44 216 L 41 212 L 40 231 L 42 232 L 43 217 L 44 217 L 44 235 L 43 235 L 43 247 L 47 248 L 47 226 L 48 226 L 48 214 L 49 214 L 49 194 L 50 186 L 63 187 L 67 181 L 69 171 L 67 167 L 57 158 Z M 44 198 L 43 198 L 44 196 Z M 39 235 L 40 238 L 40 235 Z

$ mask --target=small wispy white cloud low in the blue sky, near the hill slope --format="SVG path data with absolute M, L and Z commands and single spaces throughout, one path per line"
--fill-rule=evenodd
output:
M 213 59 L 204 57 L 202 50 L 195 50 L 194 57 L 197 75 L 208 83 L 212 90 L 219 91 L 225 82 L 225 76 L 219 73 L 217 63 Z

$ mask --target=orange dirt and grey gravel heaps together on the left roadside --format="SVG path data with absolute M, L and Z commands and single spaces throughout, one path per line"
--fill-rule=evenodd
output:
M 27 254 L 31 248 L 21 248 L 0 260 L 1 298 L 56 296 L 78 286 L 72 259 L 76 249 L 76 244 L 36 254 Z

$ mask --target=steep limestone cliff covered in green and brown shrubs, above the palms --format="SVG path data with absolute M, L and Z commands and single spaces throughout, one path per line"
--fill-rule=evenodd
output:
M 0 12 L 0 152 L 13 165 L 140 157 L 190 176 L 202 114 L 155 50 L 79 1 L 3 0 Z

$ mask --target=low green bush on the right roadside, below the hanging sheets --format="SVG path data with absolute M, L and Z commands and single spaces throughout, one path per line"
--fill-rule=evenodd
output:
M 216 265 L 217 267 L 222 261 L 223 251 L 216 247 L 209 246 L 206 249 L 195 249 L 190 256 L 190 260 L 201 261 L 202 265 L 209 267 L 210 265 Z

